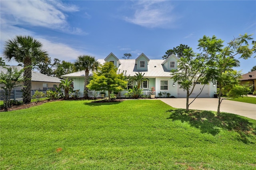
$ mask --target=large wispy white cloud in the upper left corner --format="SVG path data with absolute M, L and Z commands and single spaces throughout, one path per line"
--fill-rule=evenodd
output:
M 1 22 L 4 22 L 1 25 L 42 26 L 70 34 L 81 34 L 80 28 L 70 28 L 67 15 L 62 11 L 76 12 L 78 8 L 59 1 L 1 1 Z

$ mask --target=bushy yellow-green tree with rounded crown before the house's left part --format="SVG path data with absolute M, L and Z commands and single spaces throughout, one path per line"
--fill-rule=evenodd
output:
M 117 70 L 112 62 L 104 63 L 93 73 L 87 87 L 91 90 L 108 91 L 108 101 L 111 101 L 110 93 L 122 91 L 127 85 L 126 77 L 122 73 L 118 74 Z

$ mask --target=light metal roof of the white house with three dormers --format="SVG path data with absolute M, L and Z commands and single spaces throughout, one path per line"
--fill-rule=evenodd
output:
M 148 70 L 138 70 L 135 64 L 136 59 L 119 59 L 120 66 L 118 67 L 118 73 L 124 72 L 124 75 L 134 76 L 135 73 L 145 73 L 144 77 L 170 77 L 170 70 L 166 70 L 162 65 L 162 59 L 150 59 L 148 61 Z M 97 60 L 100 64 L 103 64 L 104 59 Z M 89 75 L 92 75 L 90 71 Z M 84 71 L 77 71 L 74 73 L 62 75 L 61 77 L 84 77 Z

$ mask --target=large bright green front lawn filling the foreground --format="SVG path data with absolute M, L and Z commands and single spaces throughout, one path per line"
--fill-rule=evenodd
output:
M 1 169 L 256 169 L 256 120 L 159 100 L 1 112 Z

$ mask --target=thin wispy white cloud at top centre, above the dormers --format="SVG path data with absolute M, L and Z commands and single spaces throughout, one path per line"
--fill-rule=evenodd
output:
M 163 1 L 136 1 L 134 15 L 125 17 L 124 20 L 149 28 L 174 27 L 177 17 L 172 14 L 173 6 Z

